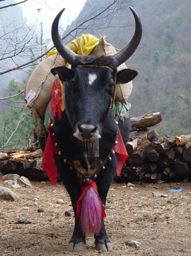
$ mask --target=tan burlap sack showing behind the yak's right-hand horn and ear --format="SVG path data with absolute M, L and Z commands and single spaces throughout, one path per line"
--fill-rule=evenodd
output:
M 99 44 L 95 49 L 92 51 L 92 54 L 95 56 L 108 56 L 108 55 L 114 55 L 118 50 L 115 49 L 111 44 L 108 44 L 104 38 L 100 38 Z M 123 70 L 127 68 L 125 63 L 121 64 L 119 67 L 117 67 L 117 70 Z M 126 83 L 126 84 L 117 84 L 116 86 L 116 97 L 115 100 L 117 102 L 125 103 L 127 104 L 127 99 L 131 95 L 131 91 L 133 88 L 132 81 Z

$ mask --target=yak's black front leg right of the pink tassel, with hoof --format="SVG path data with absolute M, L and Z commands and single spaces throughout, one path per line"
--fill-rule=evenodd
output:
M 107 167 L 105 168 L 105 171 L 100 172 L 100 175 L 97 175 L 97 180 L 96 180 L 97 190 L 103 205 L 105 205 L 109 187 L 116 174 L 117 160 L 115 156 L 112 158 L 113 158 L 112 161 L 107 163 Z M 95 238 L 96 250 L 102 250 L 102 251 L 112 250 L 111 241 L 108 239 L 103 219 L 102 219 L 100 233 L 99 235 L 94 234 L 94 238 Z

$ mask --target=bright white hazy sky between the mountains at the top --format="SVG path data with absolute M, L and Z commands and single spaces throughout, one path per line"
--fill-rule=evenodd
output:
M 15 0 L 15 3 L 20 1 Z M 38 23 L 43 22 L 45 36 L 51 38 L 51 24 L 58 12 L 66 8 L 60 18 L 60 23 L 65 29 L 68 25 L 68 20 L 71 22 L 76 19 L 85 2 L 86 0 L 29 0 L 20 4 L 20 7 L 28 23 L 34 23 L 37 19 Z M 38 11 L 37 9 L 41 10 Z

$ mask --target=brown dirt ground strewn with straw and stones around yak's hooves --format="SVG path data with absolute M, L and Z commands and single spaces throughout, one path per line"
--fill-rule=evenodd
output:
M 0 256 L 191 255 L 191 183 L 135 183 L 134 189 L 113 183 L 105 218 L 113 251 L 106 253 L 94 249 L 93 236 L 86 238 L 83 252 L 68 252 L 74 213 L 66 189 L 60 183 L 31 183 L 31 187 L 12 189 L 18 201 L 0 201 Z M 0 186 L 11 188 L 2 180 Z M 169 192 L 171 188 L 184 190 Z M 156 197 L 152 192 L 168 197 Z M 64 204 L 57 204 L 57 199 Z M 44 212 L 38 212 L 39 208 Z M 19 223 L 23 220 L 28 224 Z M 125 245 L 128 239 L 140 242 L 140 248 Z

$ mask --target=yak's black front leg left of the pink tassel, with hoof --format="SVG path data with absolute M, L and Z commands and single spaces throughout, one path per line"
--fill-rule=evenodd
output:
M 63 164 L 62 157 L 55 155 L 54 158 L 55 158 L 55 162 L 57 163 L 58 175 L 63 180 L 66 190 L 70 195 L 71 204 L 72 204 L 72 207 L 74 210 L 74 216 L 75 216 L 74 232 L 69 241 L 68 250 L 81 251 L 81 250 L 84 250 L 85 248 L 86 240 L 85 240 L 85 236 L 82 233 L 79 218 L 78 219 L 76 218 L 76 215 L 77 215 L 76 203 L 82 193 L 80 180 L 74 171 L 72 172 L 71 170 L 69 170 L 66 164 Z

